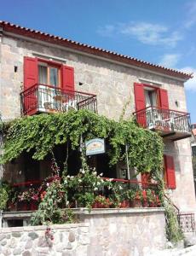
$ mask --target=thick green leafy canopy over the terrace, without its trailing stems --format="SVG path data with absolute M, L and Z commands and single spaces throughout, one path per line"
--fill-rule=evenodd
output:
M 84 140 L 101 137 L 107 140 L 110 164 L 125 160 L 125 145 L 129 146 L 130 166 L 138 172 L 152 172 L 158 177 L 162 169 L 163 142 L 155 132 L 144 130 L 134 120 L 116 122 L 87 110 L 68 113 L 40 114 L 15 119 L 5 125 L 3 163 L 17 158 L 24 151 L 33 152 L 36 160 L 51 152 L 55 145 L 70 142 L 72 149 Z

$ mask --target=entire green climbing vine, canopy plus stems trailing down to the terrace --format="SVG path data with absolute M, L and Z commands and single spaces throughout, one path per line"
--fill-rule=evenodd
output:
M 126 106 L 124 111 L 125 108 Z M 118 163 L 119 160 L 125 160 L 125 147 L 128 146 L 130 166 L 135 167 L 137 172 L 151 172 L 153 179 L 159 181 L 159 199 L 165 207 L 166 233 L 170 241 L 178 241 L 182 238 L 182 233 L 177 224 L 175 212 L 170 204 L 164 203 L 164 183 L 161 177 L 164 148 L 162 138 L 155 132 L 139 127 L 134 119 L 123 120 L 123 116 L 124 113 L 117 122 L 87 110 L 79 110 L 14 119 L 0 127 L 4 137 L 1 162 L 9 162 L 23 152 L 30 151 L 35 160 L 43 160 L 47 154 L 52 154 L 54 157 L 53 149 L 57 145 L 66 144 L 66 161 L 63 172 L 65 179 L 69 145 L 72 149 L 79 149 L 81 138 L 83 142 L 94 137 L 105 138 L 111 166 Z M 82 169 L 85 170 L 87 163 L 83 150 L 84 148 L 82 148 L 81 160 Z M 47 196 L 44 197 L 37 213 L 32 218 L 34 224 L 47 223 L 52 218 L 57 219 L 57 222 L 59 219 L 72 218 L 70 212 L 64 212 L 62 215 L 62 212 L 59 211 L 59 202 L 55 200 L 55 193 L 58 192 L 58 189 L 61 191 L 61 186 L 59 181 L 49 186 Z

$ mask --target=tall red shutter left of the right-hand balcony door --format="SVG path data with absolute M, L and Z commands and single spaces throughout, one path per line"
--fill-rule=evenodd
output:
M 134 94 L 135 94 L 135 111 L 139 111 L 141 109 L 146 108 L 145 95 L 144 95 L 144 87 L 143 84 L 134 84 Z M 140 111 L 136 113 L 136 119 L 138 124 L 147 127 L 147 117 L 146 111 Z

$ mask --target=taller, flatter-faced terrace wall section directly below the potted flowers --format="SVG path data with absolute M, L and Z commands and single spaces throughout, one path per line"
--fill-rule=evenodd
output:
M 80 218 L 89 224 L 88 256 L 149 256 L 165 247 L 162 208 L 84 209 Z

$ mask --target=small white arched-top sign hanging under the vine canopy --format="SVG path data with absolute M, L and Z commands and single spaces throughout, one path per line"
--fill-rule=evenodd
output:
M 105 141 L 101 138 L 95 138 L 85 142 L 86 155 L 105 153 Z

